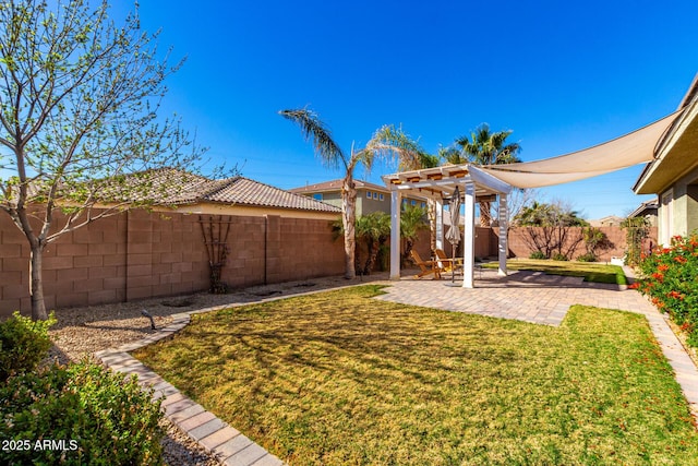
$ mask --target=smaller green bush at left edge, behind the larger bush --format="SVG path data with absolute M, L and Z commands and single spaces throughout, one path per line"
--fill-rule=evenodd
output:
M 36 369 L 51 347 L 48 328 L 55 323 L 52 312 L 46 321 L 33 321 L 15 312 L 0 323 L 0 381 Z

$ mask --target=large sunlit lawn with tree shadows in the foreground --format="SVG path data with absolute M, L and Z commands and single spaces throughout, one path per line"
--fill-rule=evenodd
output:
M 695 464 L 643 316 L 574 307 L 552 327 L 380 292 L 195 315 L 135 356 L 291 465 Z

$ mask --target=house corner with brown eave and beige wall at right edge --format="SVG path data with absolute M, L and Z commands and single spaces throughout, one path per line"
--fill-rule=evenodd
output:
M 659 198 L 659 242 L 698 229 L 698 74 L 678 106 L 682 115 L 669 128 L 636 181 L 636 194 Z

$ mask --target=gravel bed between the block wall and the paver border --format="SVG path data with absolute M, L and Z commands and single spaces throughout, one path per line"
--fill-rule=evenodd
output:
M 289 296 L 386 278 L 387 274 L 359 277 L 353 280 L 347 280 L 344 277 L 324 277 L 256 286 L 227 295 L 202 292 L 176 298 L 59 309 L 56 311 L 58 323 L 49 332 L 53 340 L 50 357 L 61 363 L 77 361 L 89 357 L 95 351 L 116 348 L 146 337 L 154 331 L 151 330 L 149 320 L 141 314 L 143 309 L 153 315 L 156 327 L 161 328 L 172 320 L 172 314 L 180 312 L 228 303 L 253 302 L 275 296 Z M 166 438 L 163 441 L 166 464 L 170 466 L 218 465 L 216 459 L 169 420 L 163 419 L 161 426 L 166 431 Z

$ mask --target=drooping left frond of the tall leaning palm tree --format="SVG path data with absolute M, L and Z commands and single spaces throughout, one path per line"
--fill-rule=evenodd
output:
M 328 168 L 338 168 L 341 163 L 347 168 L 344 152 L 333 140 L 329 129 L 320 120 L 317 113 L 308 108 L 300 108 L 281 110 L 279 115 L 299 126 L 305 141 L 312 142 L 315 155 L 323 165 Z

